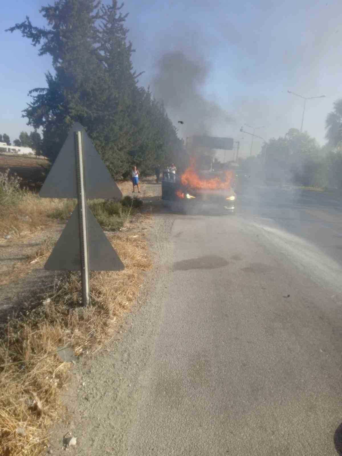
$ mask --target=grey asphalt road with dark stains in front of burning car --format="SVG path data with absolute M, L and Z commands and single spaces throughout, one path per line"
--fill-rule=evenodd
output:
M 336 455 L 341 202 L 252 189 L 236 215 L 175 216 L 159 253 L 162 311 L 121 454 Z

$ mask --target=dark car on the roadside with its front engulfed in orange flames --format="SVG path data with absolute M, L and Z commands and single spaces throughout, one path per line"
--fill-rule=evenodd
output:
M 236 207 L 233 175 L 233 171 L 222 164 L 211 163 L 210 169 L 203 169 L 192 161 L 181 176 L 171 176 L 171 179 L 163 176 L 162 200 L 185 212 L 233 213 Z

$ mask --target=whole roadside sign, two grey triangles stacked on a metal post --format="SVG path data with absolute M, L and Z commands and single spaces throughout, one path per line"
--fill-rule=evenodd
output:
M 121 198 L 122 193 L 81 124 L 73 124 L 39 194 L 78 200 L 45 269 L 80 270 L 83 306 L 88 306 L 89 270 L 117 271 L 124 265 L 90 212 L 87 197 Z

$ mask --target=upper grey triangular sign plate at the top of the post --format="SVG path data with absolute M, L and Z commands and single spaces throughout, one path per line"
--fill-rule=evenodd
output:
M 77 198 L 74 131 L 83 132 L 84 182 L 87 198 L 122 198 L 100 155 L 83 126 L 75 122 L 47 175 L 39 196 L 42 198 Z

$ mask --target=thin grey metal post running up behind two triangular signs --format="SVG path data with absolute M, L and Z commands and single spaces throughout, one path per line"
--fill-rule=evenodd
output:
M 76 159 L 76 181 L 78 201 L 78 224 L 82 275 L 82 301 L 83 306 L 90 303 L 89 286 L 89 254 L 88 254 L 88 224 L 87 224 L 87 199 L 84 188 L 84 162 L 83 162 L 83 137 L 82 131 L 74 131 L 74 146 Z

